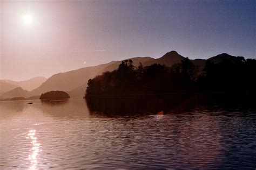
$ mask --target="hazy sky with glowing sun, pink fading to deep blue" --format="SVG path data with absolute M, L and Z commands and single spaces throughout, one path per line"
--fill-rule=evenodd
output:
M 256 1 L 0 1 L 0 79 L 175 50 L 255 58 Z

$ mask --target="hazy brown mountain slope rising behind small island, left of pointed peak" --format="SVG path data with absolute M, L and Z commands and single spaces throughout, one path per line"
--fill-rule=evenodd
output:
M 139 62 L 153 60 L 153 58 L 150 57 L 137 57 L 131 59 L 134 63 L 134 66 L 138 66 Z M 71 97 L 80 93 L 82 93 L 83 96 L 83 91 L 86 88 L 87 81 L 89 79 L 92 79 L 96 75 L 102 74 L 103 72 L 117 69 L 121 62 L 122 61 L 112 61 L 103 65 L 85 67 L 72 70 L 70 72 L 55 74 L 46 80 L 40 87 L 32 90 L 31 95 L 39 95 L 45 93 L 46 91 L 52 90 L 62 90 L 71 91 L 71 93 L 69 92 Z

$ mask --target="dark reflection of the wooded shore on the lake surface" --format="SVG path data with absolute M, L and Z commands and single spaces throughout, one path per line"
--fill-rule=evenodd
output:
M 249 96 L 244 95 L 126 95 L 126 96 L 90 96 L 86 97 L 91 114 L 131 115 L 163 114 L 169 112 L 190 112 L 197 107 L 214 109 L 220 107 L 238 107 L 250 104 Z M 226 108 L 225 108 L 226 109 Z

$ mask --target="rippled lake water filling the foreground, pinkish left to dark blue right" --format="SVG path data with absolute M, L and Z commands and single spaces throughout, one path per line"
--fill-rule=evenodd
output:
M 254 107 L 26 102 L 0 102 L 0 169 L 256 168 Z

